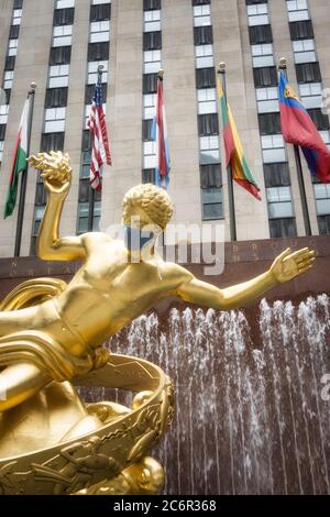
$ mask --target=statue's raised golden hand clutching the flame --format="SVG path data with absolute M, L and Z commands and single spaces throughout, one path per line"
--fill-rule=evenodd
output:
M 29 164 L 42 170 L 41 177 L 50 194 L 66 195 L 72 185 L 72 167 L 68 154 L 51 151 L 30 156 Z

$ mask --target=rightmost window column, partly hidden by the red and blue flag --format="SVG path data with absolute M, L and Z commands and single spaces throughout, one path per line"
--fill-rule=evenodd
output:
M 321 111 L 322 77 L 308 1 L 289 0 L 286 6 L 301 102 L 329 145 L 329 118 Z M 314 178 L 314 191 L 319 231 L 321 234 L 330 234 L 330 189 Z

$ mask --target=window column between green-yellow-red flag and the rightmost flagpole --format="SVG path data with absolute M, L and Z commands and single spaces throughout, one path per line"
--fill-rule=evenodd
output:
M 253 76 L 272 238 L 297 234 L 290 174 L 279 119 L 278 79 L 268 4 L 246 0 Z

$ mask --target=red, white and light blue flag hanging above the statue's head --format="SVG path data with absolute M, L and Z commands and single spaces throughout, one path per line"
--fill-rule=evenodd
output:
M 156 142 L 155 184 L 158 187 L 167 189 L 169 183 L 170 158 L 164 106 L 163 77 L 161 75 L 158 76 L 156 117 L 153 120 L 152 140 Z

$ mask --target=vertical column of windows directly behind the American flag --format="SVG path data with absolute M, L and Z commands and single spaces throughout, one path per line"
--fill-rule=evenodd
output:
M 85 119 L 81 139 L 81 162 L 78 193 L 77 234 L 88 231 L 89 213 L 89 169 L 91 160 L 91 139 L 88 120 L 92 103 L 95 85 L 98 80 L 98 67 L 102 69 L 103 111 L 107 110 L 107 84 L 110 51 L 111 2 L 109 0 L 91 0 L 89 13 L 89 42 L 87 53 L 87 77 L 85 86 Z M 96 190 L 94 199 L 92 229 L 98 230 L 101 217 L 101 191 Z

